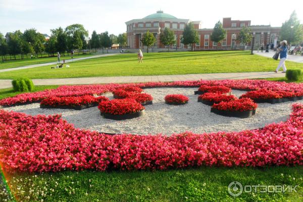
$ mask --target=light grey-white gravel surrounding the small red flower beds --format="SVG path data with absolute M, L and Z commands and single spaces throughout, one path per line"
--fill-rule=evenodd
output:
M 246 119 L 224 117 L 211 113 L 211 107 L 197 102 L 193 91 L 197 88 L 152 88 L 145 89 L 146 93 L 153 95 L 154 104 L 145 106 L 145 115 L 130 120 L 115 121 L 100 116 L 97 107 L 76 110 L 41 109 L 39 104 L 30 104 L 5 108 L 30 115 L 36 114 L 62 114 L 62 117 L 77 128 L 85 128 L 108 133 L 132 134 L 167 134 L 192 131 L 194 133 L 216 131 L 241 131 L 264 127 L 273 122 L 286 121 L 291 113 L 294 102 L 281 104 L 258 104 L 257 114 Z M 184 106 L 171 106 L 164 103 L 167 94 L 184 94 L 189 97 L 188 104 Z M 233 90 L 235 96 L 245 91 Z M 113 98 L 112 94 L 105 94 Z M 297 101 L 302 103 L 303 100 Z

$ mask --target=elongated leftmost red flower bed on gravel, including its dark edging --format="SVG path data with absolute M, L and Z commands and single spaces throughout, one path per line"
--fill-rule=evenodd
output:
M 69 96 L 69 97 L 47 97 L 41 100 L 40 108 L 60 108 L 82 110 L 95 107 L 100 102 L 108 101 L 105 96 L 94 97 L 92 95 Z

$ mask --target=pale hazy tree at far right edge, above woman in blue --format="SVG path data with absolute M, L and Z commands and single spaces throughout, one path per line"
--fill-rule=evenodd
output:
M 290 18 L 282 23 L 280 40 L 287 40 L 288 43 L 301 42 L 303 40 L 303 27 L 298 20 L 295 11 Z

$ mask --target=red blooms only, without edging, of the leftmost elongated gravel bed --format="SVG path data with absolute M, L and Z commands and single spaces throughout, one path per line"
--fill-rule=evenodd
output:
M 109 100 L 109 98 L 105 96 L 94 97 L 92 95 L 67 96 L 67 97 L 51 96 L 42 99 L 40 105 L 52 106 L 52 107 L 78 106 L 78 105 L 97 104 L 107 100 Z

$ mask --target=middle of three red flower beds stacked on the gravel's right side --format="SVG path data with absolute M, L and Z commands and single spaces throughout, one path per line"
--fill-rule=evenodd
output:
M 229 102 L 231 100 L 235 100 L 237 97 L 234 95 L 225 95 L 214 92 L 207 92 L 198 96 L 198 102 L 201 102 L 205 105 L 214 105 L 220 102 Z

